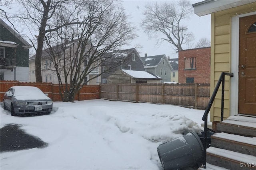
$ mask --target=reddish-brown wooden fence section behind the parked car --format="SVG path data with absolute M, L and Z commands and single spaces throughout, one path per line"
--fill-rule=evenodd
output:
M 37 83 L 37 82 L 19 82 L 19 81 L 0 81 L 0 101 L 2 102 L 5 92 L 12 86 L 35 86 L 42 92 L 47 93 L 49 98 L 54 102 L 62 102 L 59 93 L 59 85 L 52 83 Z M 91 100 L 100 99 L 99 85 L 83 86 L 75 96 L 75 100 Z

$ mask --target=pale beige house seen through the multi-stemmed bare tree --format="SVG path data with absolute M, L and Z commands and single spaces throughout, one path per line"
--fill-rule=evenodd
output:
M 72 48 L 69 48 L 69 49 L 76 49 L 76 40 L 74 40 L 73 42 L 70 41 L 70 42 L 66 42 L 66 46 L 67 47 L 70 47 L 72 46 Z M 52 47 L 52 49 L 54 51 L 56 51 L 56 53 L 60 53 L 60 52 L 57 52 L 58 49 L 60 49 L 61 46 L 65 45 L 65 43 L 61 44 L 61 45 L 56 45 L 54 47 Z M 75 46 L 75 47 L 73 47 Z M 80 49 L 76 49 L 77 51 L 80 51 Z M 56 74 L 56 70 L 55 70 L 55 67 L 54 67 L 54 64 L 52 63 L 52 59 L 50 57 L 50 49 L 44 49 L 42 51 L 42 58 L 41 58 L 41 69 L 42 69 L 42 80 L 43 82 L 52 82 L 54 84 L 58 84 L 59 83 L 59 80 L 58 80 L 58 76 Z M 65 51 L 68 53 L 68 51 Z M 59 59 L 60 58 L 63 58 L 63 54 L 60 53 L 61 55 L 59 56 Z M 71 52 L 72 54 L 72 52 Z M 68 55 L 66 56 L 70 56 L 70 53 L 68 53 Z M 36 55 L 33 55 L 32 57 L 29 58 L 29 80 L 30 82 L 36 82 L 36 75 L 35 75 L 35 58 L 36 58 Z M 66 62 L 69 62 L 69 61 L 66 61 Z M 76 64 L 73 63 L 66 63 L 66 64 L 73 64 L 74 66 Z M 88 58 L 86 58 L 83 63 L 82 63 L 82 66 L 81 66 L 81 69 L 80 69 L 80 73 L 82 73 L 82 71 L 86 68 L 88 64 Z M 64 61 L 63 59 L 60 59 L 60 65 L 63 66 L 64 65 Z M 75 66 L 76 67 L 76 66 Z M 87 84 L 87 85 L 98 85 L 100 84 L 100 76 L 98 76 L 97 78 L 94 78 L 92 80 L 90 80 L 91 78 L 93 78 L 94 76 L 100 74 L 100 66 L 94 68 L 94 70 L 92 70 L 92 72 L 90 72 L 85 78 L 84 78 L 84 84 Z M 65 80 L 64 80 L 64 72 L 63 70 L 61 71 L 61 81 L 63 84 L 65 84 Z M 70 74 L 68 74 L 68 80 L 70 79 Z M 89 80 L 89 81 L 88 81 Z M 69 82 L 68 82 L 69 83 Z

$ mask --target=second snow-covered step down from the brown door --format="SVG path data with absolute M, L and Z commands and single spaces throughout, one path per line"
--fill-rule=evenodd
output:
M 212 147 L 256 156 L 256 137 L 244 137 L 222 132 L 215 133 L 211 138 Z

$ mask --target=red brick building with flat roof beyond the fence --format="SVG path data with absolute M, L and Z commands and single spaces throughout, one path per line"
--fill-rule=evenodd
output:
M 179 51 L 179 83 L 210 83 L 211 48 Z

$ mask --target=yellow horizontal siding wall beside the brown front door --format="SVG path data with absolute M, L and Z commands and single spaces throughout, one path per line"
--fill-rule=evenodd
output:
M 234 58 L 238 57 L 232 55 L 231 53 L 231 30 L 237 29 L 231 27 L 232 17 L 254 11 L 256 11 L 256 2 L 211 14 L 211 94 L 214 91 L 221 72 L 231 72 L 231 59 L 234 60 Z M 238 74 L 238 68 L 236 69 L 236 72 L 233 71 L 234 78 Z M 229 117 L 231 114 L 234 114 L 230 113 L 230 82 L 231 78 L 226 76 L 224 119 Z M 234 91 L 233 93 L 236 92 Z M 210 110 L 210 121 L 220 121 L 220 100 L 221 93 L 218 92 L 215 98 L 215 102 L 213 103 L 213 106 Z

